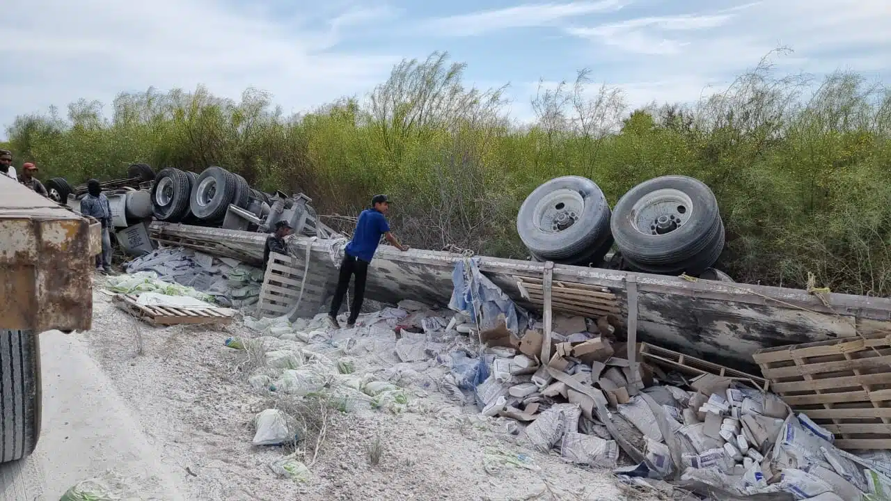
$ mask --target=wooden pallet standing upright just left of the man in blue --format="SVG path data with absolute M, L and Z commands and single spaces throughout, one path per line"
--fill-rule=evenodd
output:
M 301 253 L 298 251 L 298 254 Z M 258 316 L 262 318 L 288 315 L 298 299 L 299 316 L 315 315 L 330 293 L 331 276 L 327 270 L 317 273 L 312 264 L 307 270 L 305 259 L 303 255 L 285 256 L 274 252 L 269 254 L 266 275 L 263 277 L 263 287 L 260 289 L 260 298 L 257 302 Z M 305 270 L 308 275 L 306 280 L 304 280 Z M 302 298 L 300 298 L 301 286 Z

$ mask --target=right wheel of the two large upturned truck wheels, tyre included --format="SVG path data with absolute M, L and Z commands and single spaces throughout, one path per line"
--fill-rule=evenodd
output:
M 715 193 L 685 176 L 634 186 L 613 209 L 612 234 L 631 269 L 661 275 L 699 275 L 715 264 L 724 228 Z

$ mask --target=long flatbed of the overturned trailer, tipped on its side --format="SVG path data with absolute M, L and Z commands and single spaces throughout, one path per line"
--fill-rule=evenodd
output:
M 160 242 L 255 261 L 262 258 L 265 241 L 263 234 L 157 222 L 152 223 L 151 234 Z M 323 308 L 337 282 L 335 242 L 295 237 L 290 243 L 292 255 L 275 257 L 267 269 L 266 283 L 271 287 L 265 287 L 269 294 L 261 296 L 260 312 L 308 316 Z M 452 294 L 455 264 L 462 259 L 461 254 L 450 252 L 400 252 L 381 246 L 372 262 L 365 297 L 445 305 Z M 486 256 L 475 259 L 482 273 L 525 308 L 541 310 L 548 298 L 555 311 L 613 316 L 619 322 L 629 318 L 631 309 L 641 341 L 692 356 L 719 357 L 732 365 L 750 366 L 758 349 L 891 329 L 891 300 L 884 298 L 835 293 L 818 298 L 781 287 L 550 267 Z M 300 304 L 295 310 L 292 303 L 297 298 Z

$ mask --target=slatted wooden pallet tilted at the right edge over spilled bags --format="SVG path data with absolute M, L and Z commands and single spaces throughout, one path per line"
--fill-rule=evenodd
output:
M 836 434 L 838 448 L 891 448 L 891 335 L 761 349 L 774 392 Z

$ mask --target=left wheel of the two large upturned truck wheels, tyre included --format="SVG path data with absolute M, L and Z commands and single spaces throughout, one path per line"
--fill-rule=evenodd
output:
M 574 222 L 565 226 L 557 218 Z M 592 180 L 556 177 L 523 201 L 517 233 L 537 259 L 588 265 L 600 262 L 612 245 L 609 218 L 609 203 Z

